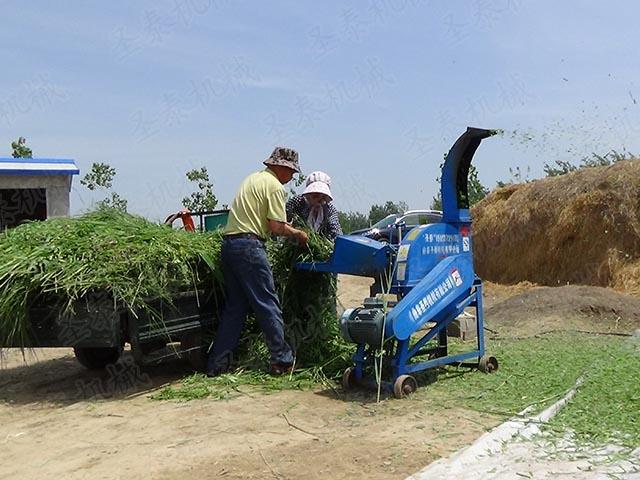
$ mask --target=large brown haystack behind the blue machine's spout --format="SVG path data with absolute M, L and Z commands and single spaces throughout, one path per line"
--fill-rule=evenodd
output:
M 640 294 L 640 162 L 494 190 L 472 210 L 476 271 L 498 283 Z

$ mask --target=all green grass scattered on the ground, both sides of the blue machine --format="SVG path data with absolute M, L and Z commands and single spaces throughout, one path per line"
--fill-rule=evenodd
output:
M 454 345 L 453 349 L 466 348 Z M 563 436 L 573 430 L 582 442 L 640 445 L 640 353 L 626 339 L 562 333 L 529 339 L 489 340 L 488 349 L 500 362 L 486 375 L 467 368 L 445 367 L 437 376 L 425 374 L 414 399 L 425 408 L 469 408 L 504 418 L 529 408 L 542 411 L 564 396 L 578 378 L 583 383 L 574 399 L 550 423 Z M 345 358 L 336 358 L 344 364 Z M 336 372 L 337 366 L 326 369 Z M 196 374 L 162 389 L 157 400 L 230 398 L 243 394 L 303 390 L 322 386 L 339 389 L 335 376 L 321 367 L 272 377 L 240 370 L 217 378 Z

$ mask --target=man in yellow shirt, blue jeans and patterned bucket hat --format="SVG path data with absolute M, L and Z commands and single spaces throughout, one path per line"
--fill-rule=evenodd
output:
M 271 373 L 282 375 L 293 368 L 293 352 L 284 338 L 282 309 L 264 242 L 275 234 L 307 243 L 305 232 L 286 223 L 283 185 L 294 173 L 300 173 L 298 152 L 276 147 L 263 163 L 266 169 L 249 175 L 240 185 L 224 229 L 222 273 L 226 301 L 207 363 L 207 374 L 211 376 L 231 367 L 233 351 L 250 311 L 265 334 Z

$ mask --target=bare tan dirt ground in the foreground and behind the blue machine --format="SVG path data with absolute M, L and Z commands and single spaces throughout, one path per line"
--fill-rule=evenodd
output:
M 339 306 L 359 304 L 369 283 L 341 277 Z M 584 328 L 640 312 L 639 300 L 611 290 L 564 288 L 487 284 L 487 322 L 523 334 L 560 324 L 557 312 L 591 318 Z M 632 328 L 625 321 L 617 325 Z M 157 401 L 150 394 L 184 377 L 186 365 L 141 370 L 125 357 L 95 373 L 69 349 L 33 353 L 2 359 L 0 449 L 10 460 L 0 478 L 404 478 L 499 423 L 458 408 L 434 413 L 427 392 L 380 404 L 371 392 L 340 389 Z

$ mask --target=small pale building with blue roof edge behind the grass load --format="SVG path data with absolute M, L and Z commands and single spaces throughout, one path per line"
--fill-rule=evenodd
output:
M 68 216 L 71 183 L 79 173 L 71 159 L 0 158 L 0 230 Z

